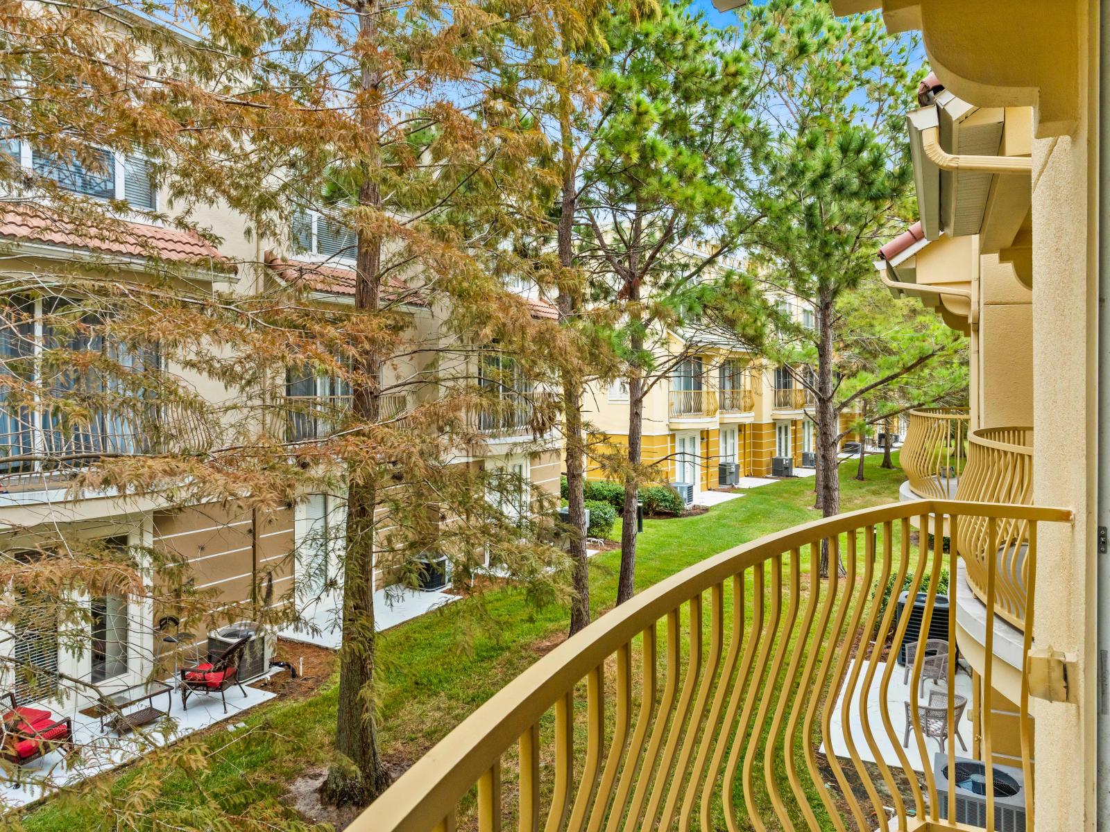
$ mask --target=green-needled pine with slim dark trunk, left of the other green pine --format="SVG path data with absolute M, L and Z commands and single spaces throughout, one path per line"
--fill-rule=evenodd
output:
M 757 223 L 748 179 L 765 129 L 748 108 L 757 83 L 733 30 L 664 3 L 657 19 L 616 18 L 601 85 L 613 114 L 583 172 L 582 257 L 604 275 L 596 294 L 615 321 L 628 385 L 628 447 L 605 467 L 624 481 L 617 603 L 635 586 L 644 399 L 722 333 L 749 349 L 761 338 L 759 295 L 725 267 Z M 757 150 L 755 152 L 758 152 Z M 677 353 L 674 332 L 684 335 Z

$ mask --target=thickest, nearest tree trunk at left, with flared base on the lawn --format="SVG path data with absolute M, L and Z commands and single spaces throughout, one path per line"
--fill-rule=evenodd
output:
M 377 38 L 381 0 L 360 7 L 359 40 L 370 51 Z M 363 90 L 376 89 L 380 72 L 362 61 Z M 367 159 L 362 165 L 359 203 L 380 207 L 377 183 L 372 175 L 380 162 L 382 114 L 379 105 L 365 105 L 360 113 L 366 136 Z M 357 233 L 355 261 L 355 310 L 379 308 L 382 278 L 382 239 L 363 230 Z M 364 351 L 352 384 L 352 409 L 362 424 L 376 424 L 381 412 L 377 378 L 382 358 Z M 340 648 L 339 712 L 335 722 L 335 754 L 320 787 L 324 803 L 367 805 L 390 784 L 390 773 L 377 748 L 374 721 L 374 515 L 377 486 L 373 471 L 352 473 L 347 485 L 346 557 L 343 572 L 343 641 Z

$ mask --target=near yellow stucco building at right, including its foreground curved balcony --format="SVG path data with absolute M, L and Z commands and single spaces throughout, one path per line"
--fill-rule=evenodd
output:
M 878 265 L 896 297 L 968 333 L 967 412 L 911 415 L 902 499 L 640 592 L 498 691 L 352 830 L 1110 822 L 1110 7 L 831 6 L 921 32 L 935 74 L 907 119 L 920 223 Z M 816 577 L 823 549 L 845 577 Z

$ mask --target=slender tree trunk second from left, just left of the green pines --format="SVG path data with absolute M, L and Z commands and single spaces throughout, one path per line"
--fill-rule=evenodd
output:
M 563 194 L 557 230 L 559 265 L 567 272 L 574 267 L 574 217 L 577 212 L 577 182 L 575 182 L 574 133 L 571 124 L 571 101 L 564 91 L 559 97 L 559 133 L 563 164 Z M 578 314 L 576 288 L 567 281 L 559 281 L 557 305 L 563 322 L 574 322 Z M 589 564 L 586 560 L 586 443 L 582 433 L 582 378 L 563 372 L 563 440 L 566 445 L 566 501 L 567 521 L 571 526 L 571 560 L 574 565 L 571 601 L 571 635 L 589 623 Z

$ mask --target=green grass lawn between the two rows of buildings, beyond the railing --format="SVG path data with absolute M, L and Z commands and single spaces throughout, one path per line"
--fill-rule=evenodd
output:
M 896 501 L 900 468 L 878 467 L 868 457 L 867 480 L 852 479 L 854 461 L 841 466 L 841 510 Z M 647 520 L 639 540 L 636 585 L 643 589 L 692 564 L 738 544 L 819 517 L 813 509 L 813 478 L 789 479 L 694 517 Z M 617 537 L 619 530 L 615 530 Z M 616 596 L 619 551 L 591 561 L 595 615 Z M 383 750 L 398 767 L 424 753 L 496 690 L 557 641 L 567 627 L 562 607 L 536 609 L 524 592 L 506 588 L 452 603 L 384 633 L 380 640 L 380 727 Z M 210 764 L 195 772 L 157 771 L 144 762 L 102 778 L 92 792 L 56 799 L 22 822 L 33 832 L 171 829 L 219 801 L 236 815 L 229 829 L 290 829 L 287 783 L 324 765 L 335 718 L 334 680 L 311 698 L 279 701 L 244 718 L 234 732 L 215 730 L 199 744 Z M 153 785 L 151 784 L 153 782 Z M 139 784 L 139 799 L 135 792 Z M 154 811 L 160 820 L 123 825 Z

